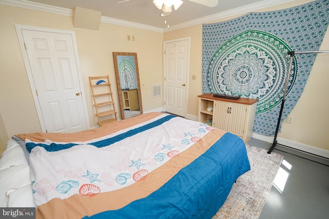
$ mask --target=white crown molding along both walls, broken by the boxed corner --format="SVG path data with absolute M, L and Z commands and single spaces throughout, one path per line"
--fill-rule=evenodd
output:
M 193 25 L 216 21 L 217 19 L 222 19 L 225 17 L 237 15 L 237 14 L 247 13 L 247 12 L 251 12 L 254 10 L 267 8 L 267 7 L 271 7 L 271 6 L 275 6 L 275 5 L 280 5 L 283 3 L 294 2 L 294 1 L 296 1 L 296 0 L 279 0 L 279 1 L 278 0 L 264 0 L 262 2 L 246 5 L 246 6 L 243 6 L 240 8 L 234 8 L 232 10 L 227 10 L 227 11 L 223 11 L 221 13 L 194 19 L 193 21 L 181 23 L 178 25 L 173 25 L 169 28 L 158 28 L 158 27 L 123 21 L 120 19 L 105 17 L 105 16 L 101 16 L 101 22 L 164 33 L 164 32 L 169 32 L 169 31 L 173 31 L 173 30 L 178 30 L 181 28 L 190 27 Z M 40 4 L 40 3 L 29 2 L 26 0 L 0 0 L 0 4 L 27 8 L 27 9 L 32 9 L 32 10 L 38 10 L 38 11 L 45 11 L 45 12 L 50 12 L 50 13 L 55 13 L 55 14 L 66 15 L 66 16 L 72 16 L 71 9 L 44 5 L 44 4 Z

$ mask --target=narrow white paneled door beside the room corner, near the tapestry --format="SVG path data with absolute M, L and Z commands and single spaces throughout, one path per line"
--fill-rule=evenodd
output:
M 165 111 L 186 116 L 189 39 L 165 42 Z

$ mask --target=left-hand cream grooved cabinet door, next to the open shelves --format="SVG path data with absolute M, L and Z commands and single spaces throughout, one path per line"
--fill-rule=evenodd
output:
M 229 103 L 223 101 L 215 101 L 213 108 L 212 125 L 213 127 L 227 131 L 229 122 Z

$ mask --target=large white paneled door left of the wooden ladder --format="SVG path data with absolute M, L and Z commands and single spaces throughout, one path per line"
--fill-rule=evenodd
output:
M 39 102 L 42 113 L 39 118 L 43 120 L 41 123 L 44 122 L 46 131 L 86 130 L 86 109 L 79 82 L 75 39 L 65 33 L 21 31 L 38 98 L 34 101 Z

